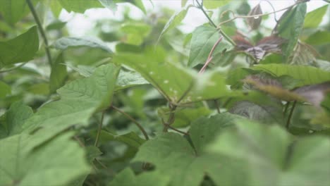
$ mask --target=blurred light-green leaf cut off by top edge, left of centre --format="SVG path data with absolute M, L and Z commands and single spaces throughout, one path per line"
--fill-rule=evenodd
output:
M 68 12 L 84 13 L 89 8 L 102 8 L 98 0 L 59 0 L 59 2 Z

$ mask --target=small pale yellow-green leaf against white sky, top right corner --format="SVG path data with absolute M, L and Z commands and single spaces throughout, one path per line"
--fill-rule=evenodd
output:
M 329 8 L 329 5 L 321 6 L 314 11 L 311 11 L 306 14 L 304 27 L 317 27 L 319 23 L 322 22 L 323 16 L 326 13 L 326 10 Z

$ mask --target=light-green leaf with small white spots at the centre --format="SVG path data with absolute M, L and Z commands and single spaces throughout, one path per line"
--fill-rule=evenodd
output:
M 219 70 L 197 76 L 187 68 L 175 63 L 164 62 L 161 54 L 121 53 L 114 56 L 115 63 L 123 63 L 135 69 L 150 82 L 166 99 L 173 103 L 190 103 L 204 99 L 215 99 L 231 94 L 225 77 Z M 197 78 L 198 77 L 198 78 Z

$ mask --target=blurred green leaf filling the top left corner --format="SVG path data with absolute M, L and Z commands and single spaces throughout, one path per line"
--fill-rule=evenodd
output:
M 32 3 L 37 4 L 37 1 L 39 0 L 34 0 Z M 27 13 L 29 13 L 29 7 L 25 0 L 0 1 L 0 14 L 9 25 L 14 25 L 18 20 L 26 16 Z

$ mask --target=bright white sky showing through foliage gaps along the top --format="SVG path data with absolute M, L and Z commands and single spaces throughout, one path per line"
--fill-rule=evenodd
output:
M 192 0 L 188 1 L 188 4 L 191 4 Z M 262 0 L 252 0 L 248 1 L 250 6 L 256 6 L 257 4 L 262 5 L 262 11 L 264 13 L 273 11 L 273 8 L 267 3 L 267 1 Z M 274 6 L 275 10 L 279 10 L 281 8 L 286 8 L 295 3 L 294 0 L 273 0 L 270 1 Z M 152 0 L 153 5 L 149 0 L 144 0 L 143 3 L 147 8 L 147 12 L 157 13 L 161 9 L 161 7 L 171 8 L 174 11 L 181 10 L 181 1 L 180 0 Z M 316 8 L 326 5 L 326 2 L 322 0 L 312 0 L 307 2 L 307 12 L 312 11 Z M 118 10 L 116 13 L 110 11 L 107 8 L 92 8 L 87 10 L 84 14 L 80 13 L 68 13 L 66 11 L 62 11 L 60 15 L 60 19 L 63 21 L 67 21 L 68 30 L 71 36 L 81 37 L 86 35 L 90 29 L 94 26 L 97 20 L 101 19 L 114 19 L 121 20 L 123 18 L 123 12 L 126 6 L 130 7 L 130 16 L 132 18 L 140 19 L 144 16 L 142 11 L 139 8 L 131 5 L 131 4 L 118 4 Z M 276 18 L 280 18 L 281 14 L 284 11 L 276 13 Z M 271 15 L 271 19 L 274 20 L 274 15 Z M 329 21 L 329 18 L 323 20 Z M 179 27 L 183 32 L 192 32 L 195 27 L 207 23 L 207 18 L 203 15 L 202 11 L 197 8 L 190 8 L 187 16 L 183 20 L 182 25 Z M 238 24 L 242 23 L 243 20 L 238 20 Z M 274 27 L 276 24 L 274 21 L 266 21 L 264 24 L 267 27 Z M 238 25 L 238 27 L 240 27 Z

